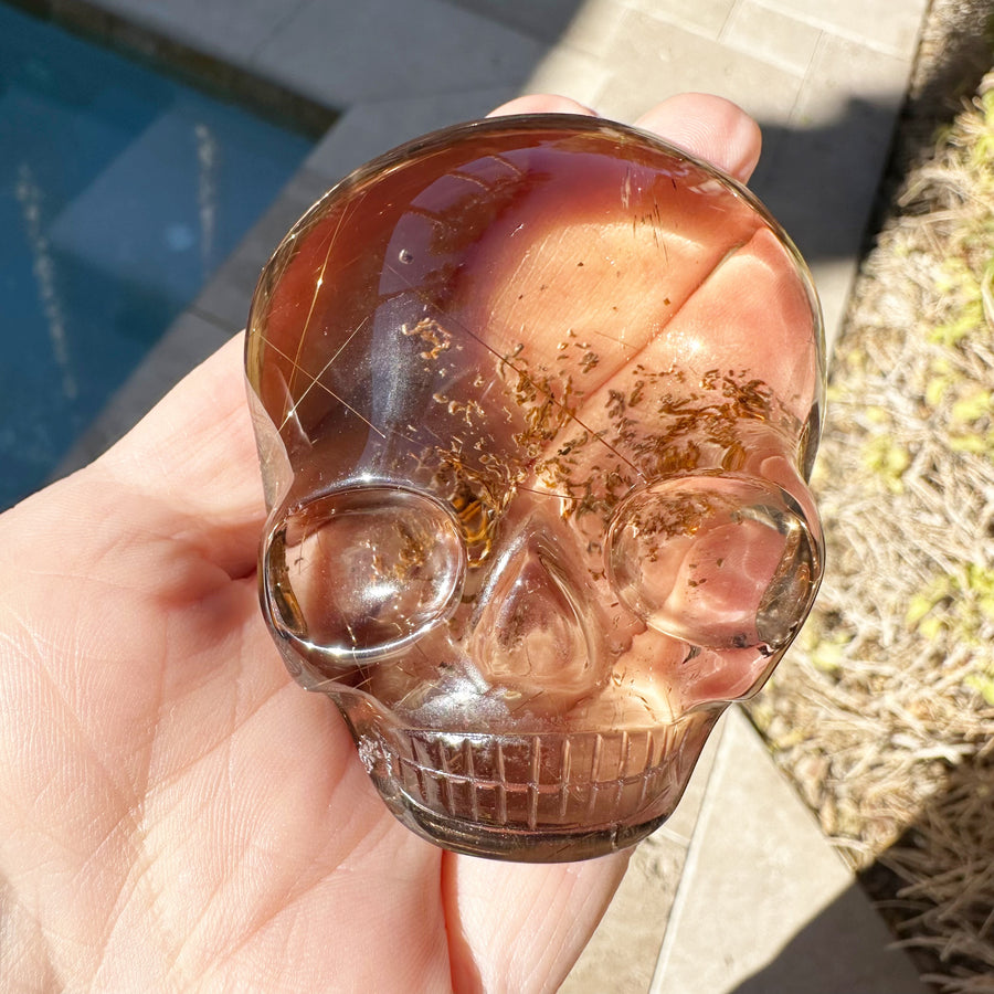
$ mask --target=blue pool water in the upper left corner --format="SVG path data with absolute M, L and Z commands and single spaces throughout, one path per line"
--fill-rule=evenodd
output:
M 309 148 L 0 4 L 0 509 L 52 473 Z

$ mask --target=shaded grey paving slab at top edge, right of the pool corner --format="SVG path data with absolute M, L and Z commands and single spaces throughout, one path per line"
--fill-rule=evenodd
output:
M 442 0 L 319 0 L 255 53 L 269 78 L 334 107 L 498 85 L 519 87 L 544 45 Z

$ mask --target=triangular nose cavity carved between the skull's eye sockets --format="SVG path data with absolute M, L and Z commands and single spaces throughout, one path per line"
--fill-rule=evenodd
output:
M 580 599 L 552 542 L 528 536 L 500 562 L 482 593 L 470 655 L 511 706 L 560 707 L 599 681 Z

